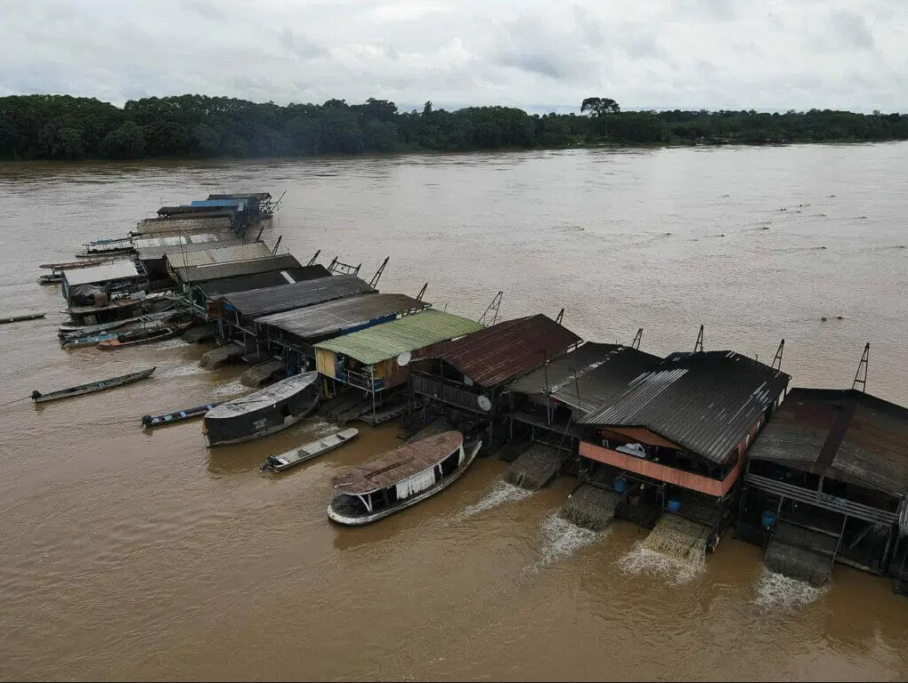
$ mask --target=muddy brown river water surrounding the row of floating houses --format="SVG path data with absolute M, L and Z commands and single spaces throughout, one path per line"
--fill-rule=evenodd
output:
M 61 350 L 38 264 L 161 204 L 287 190 L 263 239 L 390 256 L 385 291 L 479 317 L 566 309 L 595 341 L 734 348 L 793 385 L 908 405 L 908 144 L 533 151 L 318 161 L 0 165 L 0 402 L 133 368 L 151 380 L 0 414 L 0 678 L 906 678 L 908 601 L 836 567 L 826 590 L 765 573 L 727 537 L 680 580 L 646 532 L 555 516 L 573 482 L 522 495 L 504 463 L 363 529 L 331 525 L 331 476 L 400 443 L 395 424 L 281 476 L 267 454 L 318 419 L 206 451 L 198 422 L 146 413 L 242 392 L 241 367 L 182 341 Z M 824 322 L 821 317 L 827 317 Z M 839 318 L 841 317 L 841 318 Z

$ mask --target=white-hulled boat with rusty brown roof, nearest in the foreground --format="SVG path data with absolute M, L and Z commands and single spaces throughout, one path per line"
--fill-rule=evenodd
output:
M 481 447 L 481 441 L 465 444 L 460 432 L 444 432 L 353 467 L 331 480 L 341 493 L 328 506 L 328 518 L 361 526 L 424 501 L 456 482 Z

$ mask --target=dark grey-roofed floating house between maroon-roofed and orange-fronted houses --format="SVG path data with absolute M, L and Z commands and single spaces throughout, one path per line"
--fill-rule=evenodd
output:
M 577 454 L 577 421 L 627 391 L 662 362 L 631 346 L 587 342 L 506 387 L 511 441 L 542 442 Z

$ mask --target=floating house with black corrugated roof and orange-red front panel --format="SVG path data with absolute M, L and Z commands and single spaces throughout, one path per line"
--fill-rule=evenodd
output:
M 663 510 L 711 530 L 731 521 L 745 454 L 789 376 L 734 351 L 675 353 L 580 419 L 587 477 L 624 496 L 618 516 L 652 526 Z

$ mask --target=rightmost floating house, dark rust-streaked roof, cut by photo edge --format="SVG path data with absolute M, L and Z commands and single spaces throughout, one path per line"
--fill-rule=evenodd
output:
M 908 580 L 908 408 L 794 388 L 751 448 L 737 535 L 766 564 L 822 583 L 834 562 Z

